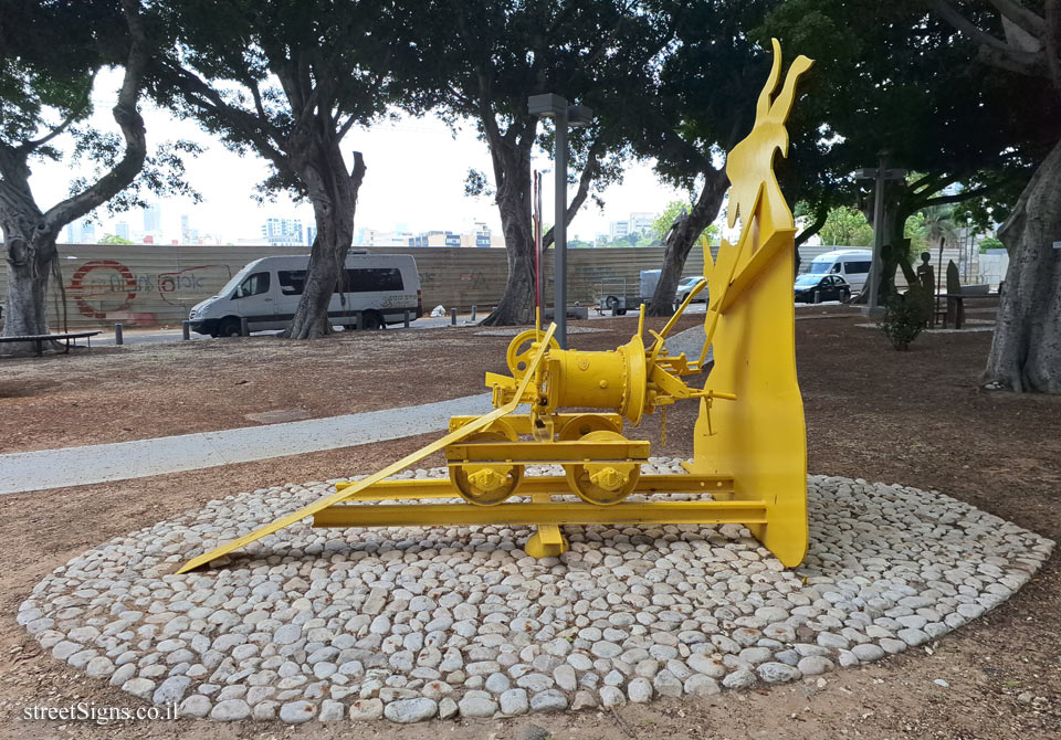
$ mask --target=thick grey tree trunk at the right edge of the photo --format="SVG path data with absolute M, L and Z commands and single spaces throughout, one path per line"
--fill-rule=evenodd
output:
M 986 380 L 1019 393 L 1061 393 L 1061 141 L 998 230 L 1009 269 Z

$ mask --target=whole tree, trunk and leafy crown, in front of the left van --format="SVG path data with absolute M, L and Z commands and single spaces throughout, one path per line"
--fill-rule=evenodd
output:
M 239 152 L 271 166 L 265 192 L 309 200 L 317 236 L 286 336 L 332 331 L 328 304 L 354 237 L 361 154 L 343 142 L 395 99 L 401 24 L 387 0 L 160 0 L 171 42 L 153 93 Z

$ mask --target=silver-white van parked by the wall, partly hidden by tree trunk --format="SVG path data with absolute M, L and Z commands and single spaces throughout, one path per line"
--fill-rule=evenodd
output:
M 295 316 L 306 282 L 308 256 L 262 257 L 232 276 L 221 292 L 196 305 L 188 314 L 197 334 L 237 337 L 241 319 L 251 331 L 284 329 Z M 423 315 L 420 275 L 408 254 L 368 254 L 351 251 L 346 271 L 328 305 L 332 324 L 354 327 L 360 317 L 365 329 Z

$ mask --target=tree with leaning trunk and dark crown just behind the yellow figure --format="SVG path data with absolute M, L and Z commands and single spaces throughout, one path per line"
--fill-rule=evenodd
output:
M 660 178 L 687 190 L 690 200 L 663 240 L 662 271 L 649 305 L 652 315 L 671 313 L 689 253 L 722 208 L 729 187 L 726 152 L 750 128 L 771 63 L 769 36 L 758 30 L 778 4 L 778 0 L 653 3 L 658 25 L 672 32 L 668 52 L 653 71 L 644 102 L 639 106 L 619 102 L 617 115 L 633 149 L 653 158 Z M 787 55 L 803 51 L 781 41 Z M 817 193 L 832 187 L 823 176 L 830 169 L 821 165 L 830 154 L 815 136 L 820 120 L 801 112 L 802 105 L 796 106 L 789 124 L 791 147 L 787 160 L 777 163 L 778 178 L 794 202 L 811 193 L 817 202 L 822 200 Z M 816 208 L 799 243 L 821 226 L 827 211 Z

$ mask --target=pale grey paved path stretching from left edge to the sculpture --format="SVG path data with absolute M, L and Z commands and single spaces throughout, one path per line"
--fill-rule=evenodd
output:
M 143 478 L 398 440 L 445 430 L 450 416 L 456 414 L 491 410 L 490 393 L 481 393 L 286 424 L 11 453 L 0 455 L 0 494 Z

